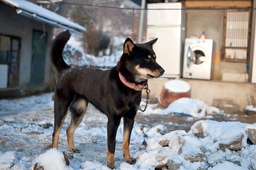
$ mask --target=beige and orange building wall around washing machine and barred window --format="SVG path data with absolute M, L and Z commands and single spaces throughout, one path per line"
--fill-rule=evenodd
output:
M 251 1 L 185 1 L 186 8 L 196 7 L 250 7 Z M 246 73 L 246 62 L 227 62 L 221 59 L 224 10 L 187 10 L 186 37 L 199 37 L 205 31 L 206 38 L 213 39 L 213 79 L 221 80 L 223 72 Z

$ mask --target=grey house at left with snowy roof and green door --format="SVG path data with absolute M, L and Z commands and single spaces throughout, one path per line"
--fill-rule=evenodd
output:
M 53 27 L 83 26 L 25 0 L 0 0 L 0 98 L 50 89 Z M 81 34 L 81 33 L 80 33 Z

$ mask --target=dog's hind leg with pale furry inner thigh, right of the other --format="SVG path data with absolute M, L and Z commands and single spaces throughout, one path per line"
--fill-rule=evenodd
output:
M 87 99 L 76 97 L 76 99 L 73 101 L 73 103 L 70 106 L 71 122 L 67 129 L 67 137 L 68 137 L 69 150 L 74 153 L 80 152 L 78 149 L 75 148 L 73 138 L 74 138 L 75 129 L 79 126 L 79 124 L 83 120 L 83 117 L 87 109 L 87 105 L 88 105 Z

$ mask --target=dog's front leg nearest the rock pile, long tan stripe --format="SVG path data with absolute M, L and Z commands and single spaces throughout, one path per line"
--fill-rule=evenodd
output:
M 124 154 L 124 160 L 128 164 L 135 164 L 136 160 L 131 157 L 130 150 L 129 150 L 129 144 L 130 144 L 130 138 L 131 138 L 131 132 L 134 124 L 134 117 L 136 115 L 137 110 L 135 108 L 132 108 L 127 113 L 124 114 L 124 132 L 123 132 L 123 154 Z

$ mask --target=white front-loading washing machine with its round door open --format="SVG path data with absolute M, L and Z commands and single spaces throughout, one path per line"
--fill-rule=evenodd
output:
M 186 38 L 183 59 L 183 77 L 195 79 L 212 78 L 212 39 Z

